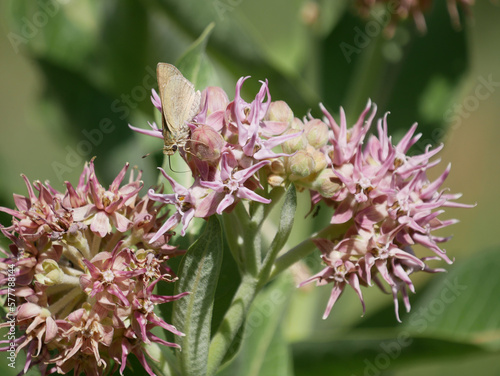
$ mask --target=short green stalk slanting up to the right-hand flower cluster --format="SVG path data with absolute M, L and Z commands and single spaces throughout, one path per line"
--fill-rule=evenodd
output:
M 304 240 L 302 243 L 296 245 L 284 255 L 278 257 L 274 263 L 274 267 L 271 270 L 268 281 L 314 251 L 316 249 L 316 246 L 311 241 L 312 238 L 327 238 L 330 240 L 339 239 L 345 234 L 347 229 L 351 227 L 351 224 L 352 221 L 348 221 L 347 223 L 343 223 L 340 225 L 328 225 L 320 232 L 312 235 L 309 239 Z

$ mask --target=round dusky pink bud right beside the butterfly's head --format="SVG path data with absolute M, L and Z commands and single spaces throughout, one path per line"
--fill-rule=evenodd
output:
M 222 136 L 208 125 L 196 128 L 191 134 L 191 153 L 202 161 L 217 161 L 223 146 Z

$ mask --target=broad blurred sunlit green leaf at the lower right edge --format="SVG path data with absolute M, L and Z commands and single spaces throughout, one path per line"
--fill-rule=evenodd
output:
M 500 350 L 499 269 L 498 249 L 457 263 L 432 283 L 403 322 L 415 335 Z

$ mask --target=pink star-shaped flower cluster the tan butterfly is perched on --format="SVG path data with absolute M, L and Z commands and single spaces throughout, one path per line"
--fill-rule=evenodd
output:
M 191 140 L 187 153 L 184 153 L 194 183 L 186 188 L 160 169 L 174 193 L 149 190 L 149 197 L 174 205 L 177 210 L 153 241 L 178 224 L 182 224 L 181 234 L 184 235 L 192 218 L 230 211 L 242 199 L 270 203 L 269 199 L 255 192 L 263 188 L 259 174 L 263 167 L 286 155 L 275 153 L 273 148 L 295 138 L 297 132 L 283 134 L 289 128 L 293 114 L 284 102 L 271 102 L 267 81 L 262 83 L 251 103 L 242 99 L 241 87 L 247 78 L 238 81 L 232 102 L 219 87 L 203 91 L 200 112 L 190 124 Z M 153 92 L 152 101 L 161 112 L 156 92 Z M 151 125 L 150 131 L 130 128 L 163 139 L 156 124 Z

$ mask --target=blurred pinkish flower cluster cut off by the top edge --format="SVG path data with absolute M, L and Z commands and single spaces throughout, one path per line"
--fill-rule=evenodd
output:
M 458 5 L 470 14 L 470 7 L 475 0 L 447 0 L 448 12 L 453 26 L 460 28 L 460 16 Z M 427 31 L 424 13 L 433 5 L 432 0 L 357 0 L 356 7 L 361 15 L 368 17 L 375 11 L 376 7 L 383 6 L 383 11 L 390 13 L 388 31 L 393 32 L 394 26 L 401 20 L 412 17 L 415 25 L 422 33 Z

